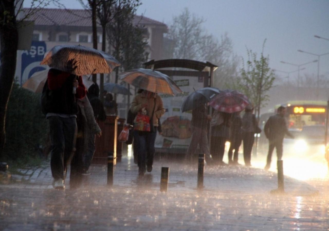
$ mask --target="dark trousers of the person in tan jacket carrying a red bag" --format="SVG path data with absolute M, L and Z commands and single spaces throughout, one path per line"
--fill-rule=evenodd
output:
M 134 138 L 137 141 L 138 167 L 140 172 L 145 172 L 146 166 L 153 165 L 156 136 L 156 129 L 153 132 L 136 132 Z

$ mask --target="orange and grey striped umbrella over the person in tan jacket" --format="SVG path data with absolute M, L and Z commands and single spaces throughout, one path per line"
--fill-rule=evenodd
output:
M 121 80 L 143 90 L 154 93 L 176 95 L 182 93 L 177 84 L 161 72 L 152 69 L 135 69 L 121 75 Z

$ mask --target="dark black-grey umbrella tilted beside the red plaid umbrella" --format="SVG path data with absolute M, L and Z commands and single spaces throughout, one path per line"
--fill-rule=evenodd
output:
M 219 89 L 214 87 L 201 88 L 190 94 L 183 102 L 182 112 L 187 112 L 209 102 L 212 98 L 219 94 Z

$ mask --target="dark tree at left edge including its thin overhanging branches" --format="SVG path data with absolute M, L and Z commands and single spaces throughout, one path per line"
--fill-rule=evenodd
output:
M 24 11 L 25 14 L 20 19 L 17 17 L 23 10 L 24 0 L 0 1 L 0 159 L 3 156 L 3 148 L 6 143 L 6 111 L 15 76 L 19 22 L 48 5 L 51 1 L 58 2 L 58 0 L 33 0 L 31 8 Z

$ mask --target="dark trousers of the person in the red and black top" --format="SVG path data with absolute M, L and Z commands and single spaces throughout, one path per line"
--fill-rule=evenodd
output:
M 64 169 L 75 151 L 77 122 L 75 117 L 48 117 L 51 140 L 51 174 L 55 180 L 64 179 Z

